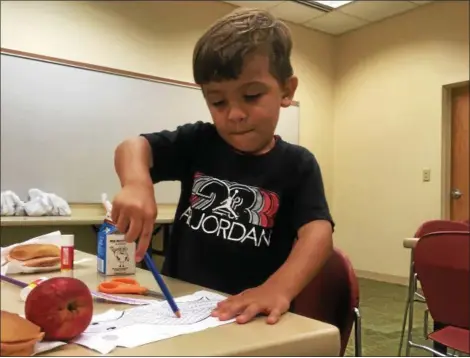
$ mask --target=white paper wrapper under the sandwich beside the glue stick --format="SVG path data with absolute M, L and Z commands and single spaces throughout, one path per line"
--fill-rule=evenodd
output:
M 16 274 L 16 273 L 50 272 L 50 271 L 60 270 L 60 264 L 57 264 L 55 266 L 50 266 L 50 267 L 26 267 L 26 266 L 23 266 L 21 261 L 12 260 L 8 262 L 7 256 L 10 253 L 11 249 L 13 249 L 14 247 L 18 245 L 40 243 L 40 244 L 57 245 L 58 247 L 60 247 L 61 240 L 62 240 L 61 232 L 53 231 L 51 233 L 32 238 L 32 239 L 26 240 L 18 244 L 10 245 L 7 247 L 2 247 L 0 251 L 2 275 L 11 275 L 11 274 Z M 86 262 L 90 260 L 91 259 L 89 258 L 84 258 L 81 260 L 74 260 L 74 265 L 79 265 L 82 262 Z

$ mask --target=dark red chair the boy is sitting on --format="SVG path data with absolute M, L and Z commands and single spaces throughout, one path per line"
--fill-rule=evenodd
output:
M 348 257 L 334 249 L 330 258 L 294 300 L 294 312 L 336 326 L 343 356 L 355 328 L 355 355 L 362 355 L 359 284 Z

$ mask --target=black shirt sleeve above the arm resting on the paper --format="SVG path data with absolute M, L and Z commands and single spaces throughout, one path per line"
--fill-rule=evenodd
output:
M 314 155 L 306 151 L 300 164 L 300 176 L 294 195 L 292 221 L 295 230 L 314 220 L 334 221 L 325 196 L 320 166 Z

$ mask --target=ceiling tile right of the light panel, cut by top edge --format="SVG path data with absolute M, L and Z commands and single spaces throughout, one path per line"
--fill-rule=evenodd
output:
M 371 1 L 356 0 L 352 3 L 344 5 L 337 11 L 344 14 L 355 16 L 368 21 L 378 21 L 386 17 L 396 15 L 417 7 L 410 1 Z

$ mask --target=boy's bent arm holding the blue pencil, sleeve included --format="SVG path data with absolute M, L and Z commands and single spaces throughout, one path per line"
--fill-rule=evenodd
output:
M 127 241 L 140 238 L 138 261 L 147 251 L 157 215 L 153 184 L 184 178 L 196 139 L 205 126 L 201 122 L 174 131 L 146 133 L 116 148 L 114 163 L 122 188 L 113 200 L 112 219 Z

